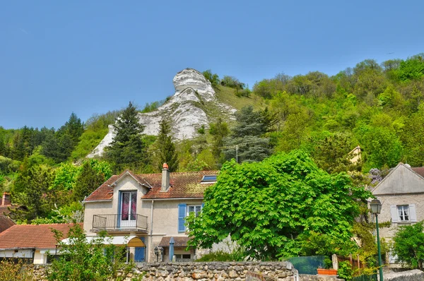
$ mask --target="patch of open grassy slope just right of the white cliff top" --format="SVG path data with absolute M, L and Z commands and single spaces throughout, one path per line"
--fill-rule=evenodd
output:
M 266 107 L 264 99 L 254 95 L 253 93 L 250 97 L 237 97 L 235 95 L 235 90 L 232 88 L 219 85 L 218 89 L 219 91 L 216 92 L 216 98 L 218 101 L 228 104 L 237 110 L 248 105 L 252 105 L 255 110 L 264 109 Z

